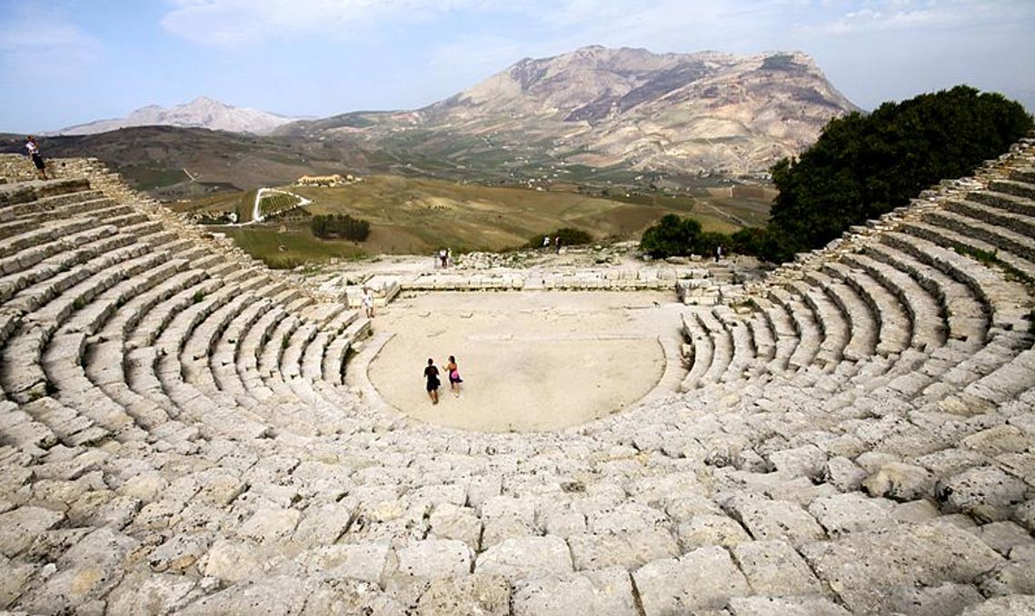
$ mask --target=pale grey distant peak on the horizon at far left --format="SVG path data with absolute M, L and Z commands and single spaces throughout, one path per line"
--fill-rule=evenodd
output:
M 55 131 L 55 134 L 95 135 L 129 126 L 178 126 L 181 128 L 210 128 L 231 133 L 267 135 L 277 126 L 298 119 L 256 109 L 232 107 L 207 96 L 199 96 L 184 105 L 168 109 L 150 105 L 138 109 L 124 118 L 97 120 L 87 124 L 68 126 Z

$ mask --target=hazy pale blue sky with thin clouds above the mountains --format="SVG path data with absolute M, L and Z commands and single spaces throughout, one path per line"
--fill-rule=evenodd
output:
M 1035 0 L 0 0 L 0 130 L 413 109 L 587 45 L 798 50 L 867 109 L 960 83 L 1035 109 Z

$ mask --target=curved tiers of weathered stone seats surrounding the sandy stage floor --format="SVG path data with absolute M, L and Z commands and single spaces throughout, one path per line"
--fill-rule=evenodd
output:
M 1035 614 L 1035 140 L 533 434 L 365 404 L 354 311 L 59 170 L 0 160 L 0 609 Z

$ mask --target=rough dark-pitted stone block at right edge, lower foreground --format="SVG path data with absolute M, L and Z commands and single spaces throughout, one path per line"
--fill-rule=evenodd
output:
M 938 482 L 938 499 L 947 511 L 970 514 L 978 520 L 997 521 L 1010 517 L 1014 505 L 1026 500 L 1024 481 L 995 466 L 968 469 Z

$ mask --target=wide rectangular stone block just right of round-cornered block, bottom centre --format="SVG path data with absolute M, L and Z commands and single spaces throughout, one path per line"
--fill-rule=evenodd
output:
M 666 529 L 637 532 L 581 534 L 568 537 L 578 570 L 612 566 L 634 568 L 659 558 L 678 556 L 679 544 Z

